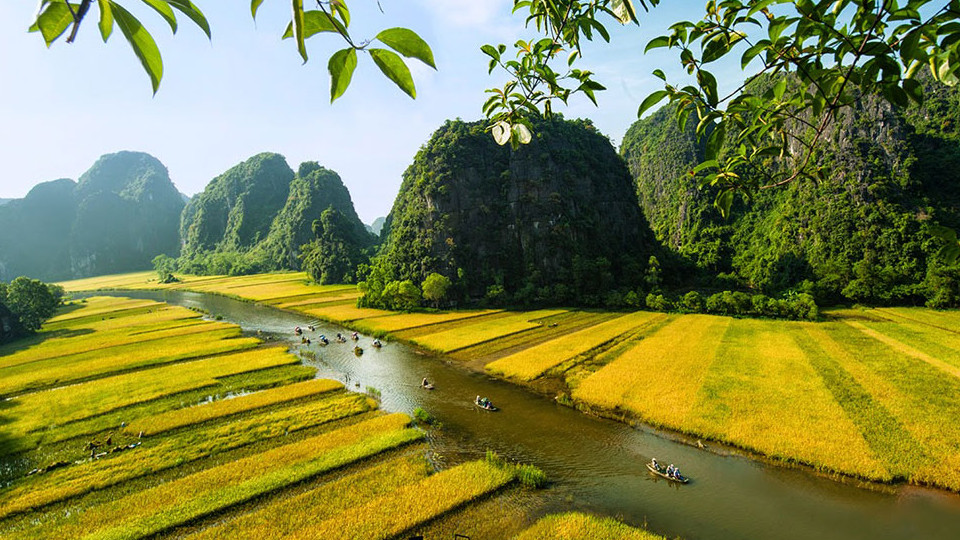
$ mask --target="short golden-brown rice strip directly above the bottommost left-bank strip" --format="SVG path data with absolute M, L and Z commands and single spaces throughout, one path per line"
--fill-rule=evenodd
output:
M 431 472 L 421 455 L 394 458 L 358 473 L 291 497 L 257 506 L 227 523 L 218 523 L 187 538 L 234 540 L 255 536 L 281 538 L 312 527 L 354 506 L 360 506 L 404 486 L 419 482 Z

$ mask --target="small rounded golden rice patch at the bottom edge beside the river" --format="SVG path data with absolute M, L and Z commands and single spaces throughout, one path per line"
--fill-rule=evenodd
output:
M 513 540 L 664 540 L 612 518 L 581 513 L 555 514 L 537 521 Z

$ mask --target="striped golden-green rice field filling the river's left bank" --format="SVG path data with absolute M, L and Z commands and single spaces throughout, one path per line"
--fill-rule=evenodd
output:
M 190 311 L 91 298 L 52 324 L 0 353 L 26 378 L 50 362 L 76 375 L 2 401 L 0 457 L 18 465 L 0 473 L 0 538 L 386 538 L 517 479 L 487 461 L 435 472 L 409 417 L 280 347 L 215 339 L 236 346 L 162 360 L 150 343 L 236 332 Z M 137 369 L 103 369 L 121 350 Z

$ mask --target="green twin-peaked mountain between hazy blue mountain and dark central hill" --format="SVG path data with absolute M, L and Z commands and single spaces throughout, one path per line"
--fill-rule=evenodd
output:
M 327 210 L 337 212 L 351 250 L 374 243 L 337 173 L 306 162 L 294 174 L 279 154 L 253 156 L 214 178 L 187 203 L 180 269 L 215 274 L 301 269 L 303 246 L 320 237 L 314 222 Z M 312 252 L 316 255 L 316 249 Z M 350 261 L 347 266 L 354 269 L 363 262 Z M 336 280 L 345 275 L 338 273 Z

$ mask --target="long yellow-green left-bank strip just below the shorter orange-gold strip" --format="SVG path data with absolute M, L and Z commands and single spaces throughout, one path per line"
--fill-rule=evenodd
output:
M 115 456 L 21 480 L 0 493 L 0 518 L 372 409 L 366 397 L 349 394 L 180 434 L 155 445 L 145 441 Z

